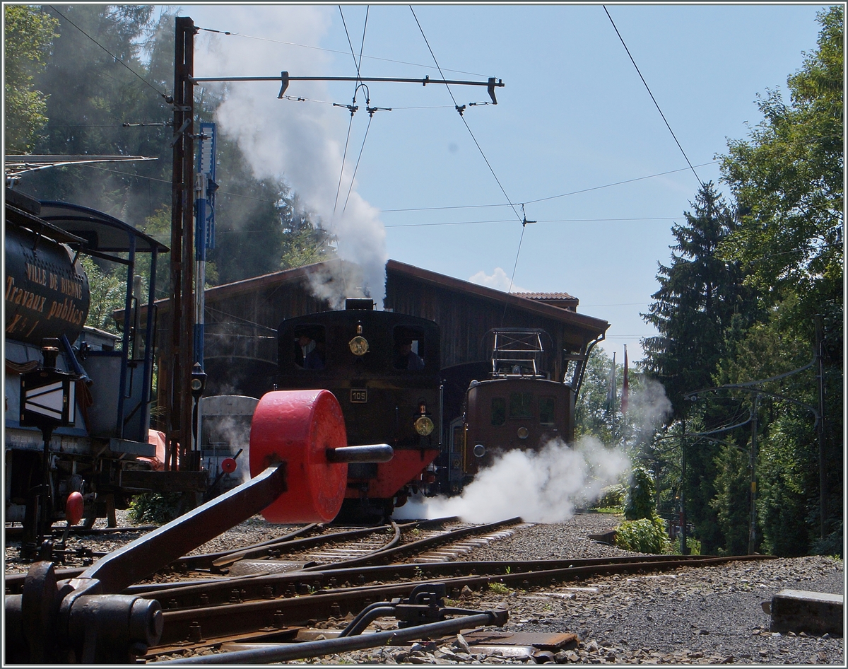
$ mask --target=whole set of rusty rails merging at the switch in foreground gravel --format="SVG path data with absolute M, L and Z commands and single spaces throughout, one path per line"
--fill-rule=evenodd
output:
M 305 526 L 261 545 L 187 556 L 172 565 L 185 572 L 187 580 L 136 584 L 122 592 L 154 599 L 163 610 L 159 644 L 139 660 L 155 662 L 175 653 L 198 655 L 210 649 L 217 654 L 228 647 L 243 648 L 243 644 L 301 642 L 299 646 L 315 640 L 316 626 L 322 627 L 323 637 L 332 639 L 357 612 L 376 603 L 388 606 L 403 601 L 421 587 L 441 588 L 446 603 L 453 604 L 464 588 L 485 593 L 496 583 L 525 590 L 591 576 L 717 565 L 730 559 L 658 555 L 455 561 L 480 543 L 509 536 L 524 526 L 521 519 L 486 526 L 469 526 L 456 519 L 365 529 Z M 76 576 L 73 572 L 58 572 L 57 577 Z M 198 580 L 204 572 L 208 577 Z M 14 593 L 23 587 L 23 579 L 8 577 L 6 587 Z M 303 648 L 305 652 L 310 646 Z

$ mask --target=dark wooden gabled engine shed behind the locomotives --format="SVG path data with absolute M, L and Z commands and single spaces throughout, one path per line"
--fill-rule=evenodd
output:
M 326 261 L 206 290 L 207 394 L 261 396 L 271 390 L 277 326 L 285 318 L 331 309 L 330 301 L 315 296 L 315 284 L 326 286 L 333 280 L 328 277 L 338 276 L 345 265 Z M 469 377 L 484 373 L 491 354 L 486 335 L 496 328 L 544 330 L 550 337 L 550 377 L 566 380 L 578 391 L 586 357 L 609 323 L 577 313 L 577 304 L 566 293 L 509 294 L 399 261 L 386 264 L 383 308 L 438 323 L 442 367 L 463 370 L 454 374 L 455 391 L 460 386 L 464 391 Z M 169 303 L 159 301 L 158 306 L 158 340 L 165 342 Z M 167 359 L 160 351 L 160 373 L 166 372 Z

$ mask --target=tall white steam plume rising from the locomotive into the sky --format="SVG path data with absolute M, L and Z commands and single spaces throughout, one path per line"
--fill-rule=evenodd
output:
M 280 42 L 318 46 L 331 24 L 332 9 L 205 7 L 202 17 L 204 22 L 213 22 L 211 27 L 260 39 L 236 34 L 209 38 L 209 33 L 201 33 L 195 49 L 196 76 L 276 76 L 281 70 L 292 76 L 326 74 L 331 56 Z M 341 303 L 345 292 L 349 296 L 370 296 L 380 308 L 388 259 L 386 231 L 377 208 L 356 192 L 355 181 L 348 199 L 353 176 L 351 149 L 336 202 L 349 115 L 326 104 L 277 99 L 279 89 L 278 82 L 229 84 L 226 100 L 215 115 L 220 132 L 237 141 L 256 177 L 284 177 L 307 209 L 320 217 L 321 226 L 336 236 L 338 256 L 362 267 L 359 281 L 333 277 L 332 284 L 319 282 L 323 292 L 316 296 L 329 298 L 334 306 Z M 316 100 L 328 98 L 326 85 L 321 82 L 293 82 L 287 93 Z M 357 121 L 360 119 L 354 118 L 354 143 Z

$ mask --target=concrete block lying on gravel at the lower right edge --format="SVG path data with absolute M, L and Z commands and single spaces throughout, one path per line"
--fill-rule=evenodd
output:
M 763 610 L 772 616 L 771 632 L 806 632 L 842 636 L 842 600 L 840 594 L 781 590 Z

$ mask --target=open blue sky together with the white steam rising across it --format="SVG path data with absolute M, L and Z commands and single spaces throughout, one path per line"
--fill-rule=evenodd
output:
M 362 76 L 438 78 L 435 56 L 448 78 L 502 79 L 499 104 L 467 106 L 462 118 L 444 85 L 373 84 L 371 106 L 392 111 L 377 111 L 370 126 L 364 92 L 352 122 L 330 104 L 350 104 L 353 84 L 294 82 L 287 93 L 303 102 L 276 99 L 276 83 L 234 84 L 220 129 L 244 142 L 258 172 L 282 173 L 337 226 L 343 255 L 387 256 L 502 290 L 515 267 L 513 290 L 575 295 L 580 312 L 611 323 L 605 350 L 621 359 L 627 344 L 638 360 L 639 339 L 653 334 L 639 312 L 698 181 L 603 6 L 413 8 L 416 16 L 407 5 L 371 5 L 365 24 L 365 5 L 342 5 L 349 37 L 337 5 L 181 5 L 180 13 L 238 33 L 198 35 L 197 76 L 354 76 L 352 44 L 357 58 L 362 48 Z M 718 182 L 709 163 L 728 138 L 745 138 L 746 122 L 761 120 L 757 93 L 784 89 L 802 52 L 816 47 L 823 5 L 607 8 L 698 177 Z M 450 90 L 460 105 L 488 99 L 485 88 Z M 342 209 L 360 149 L 353 213 L 343 220 L 330 200 L 338 189 Z M 523 238 L 521 203 L 538 221 Z

